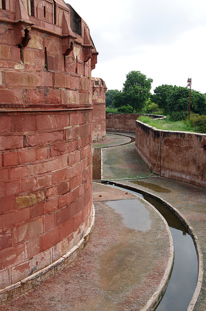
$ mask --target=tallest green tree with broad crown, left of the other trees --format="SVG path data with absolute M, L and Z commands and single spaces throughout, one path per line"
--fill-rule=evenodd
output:
M 114 106 L 118 108 L 129 105 L 132 107 L 132 113 L 141 110 L 151 95 L 152 82 L 152 79 L 147 79 L 140 71 L 130 71 L 126 75 L 123 91 L 114 96 Z

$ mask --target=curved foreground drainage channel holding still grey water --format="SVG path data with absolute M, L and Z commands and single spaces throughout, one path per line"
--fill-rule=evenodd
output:
M 174 266 L 167 290 L 155 309 L 156 311 L 187 311 L 189 303 L 195 291 L 198 276 L 198 260 L 195 246 L 186 226 L 170 210 L 154 197 L 135 188 L 117 184 L 115 182 L 103 182 L 111 187 L 126 189 L 135 193 L 151 203 L 166 219 L 174 244 Z M 117 186 L 118 185 L 118 186 Z

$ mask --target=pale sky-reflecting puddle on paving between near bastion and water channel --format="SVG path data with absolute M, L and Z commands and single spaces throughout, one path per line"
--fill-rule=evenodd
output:
M 139 200 L 109 201 L 106 205 L 121 215 L 124 225 L 128 228 L 143 232 L 151 229 L 149 211 Z

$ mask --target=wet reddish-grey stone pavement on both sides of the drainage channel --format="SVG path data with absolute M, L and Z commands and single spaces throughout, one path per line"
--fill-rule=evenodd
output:
M 115 139 L 109 144 L 116 145 Z M 135 152 L 134 143 L 103 148 L 102 178 L 150 174 Z M 206 189 L 163 177 L 119 182 L 166 200 L 193 227 L 201 245 L 204 269 L 193 310 L 206 310 Z M 95 226 L 79 258 L 34 290 L 0 306 L 0 311 L 138 311 L 158 291 L 171 259 L 167 225 L 153 207 L 126 190 L 94 183 L 93 197 Z M 139 212 L 140 224 L 145 226 L 131 228 L 120 214 L 120 206 L 113 205 L 118 200 L 128 208 L 137 201 L 144 210 Z

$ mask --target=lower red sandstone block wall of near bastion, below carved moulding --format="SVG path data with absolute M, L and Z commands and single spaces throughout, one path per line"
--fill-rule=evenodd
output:
M 48 266 L 86 232 L 92 212 L 90 121 L 87 111 L 0 116 L 2 287 Z

